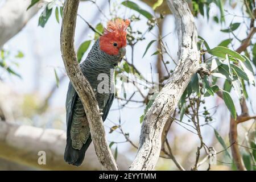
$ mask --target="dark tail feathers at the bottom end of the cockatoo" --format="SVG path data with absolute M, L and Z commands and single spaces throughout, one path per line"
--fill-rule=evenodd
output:
M 64 153 L 65 162 L 73 164 L 75 166 L 80 166 L 82 164 L 82 161 L 84 160 L 85 152 L 87 148 L 90 146 L 91 142 L 92 138 L 89 136 L 85 144 L 83 144 L 82 148 L 80 150 L 77 150 L 72 147 L 71 137 L 68 136 Z

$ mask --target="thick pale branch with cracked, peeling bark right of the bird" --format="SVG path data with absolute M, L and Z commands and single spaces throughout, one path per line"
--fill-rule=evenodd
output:
M 174 113 L 188 82 L 199 69 L 197 31 L 187 2 L 168 0 L 167 3 L 176 20 L 179 63 L 145 115 L 139 150 L 130 170 L 154 169 L 160 154 L 163 127 Z

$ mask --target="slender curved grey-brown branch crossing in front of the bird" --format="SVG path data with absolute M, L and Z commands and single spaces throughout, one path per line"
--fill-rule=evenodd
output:
M 82 75 L 74 48 L 79 0 L 65 1 L 61 26 L 60 48 L 67 75 L 79 95 L 90 125 L 90 133 L 102 169 L 117 170 L 117 164 L 106 140 L 100 109 L 88 80 Z

